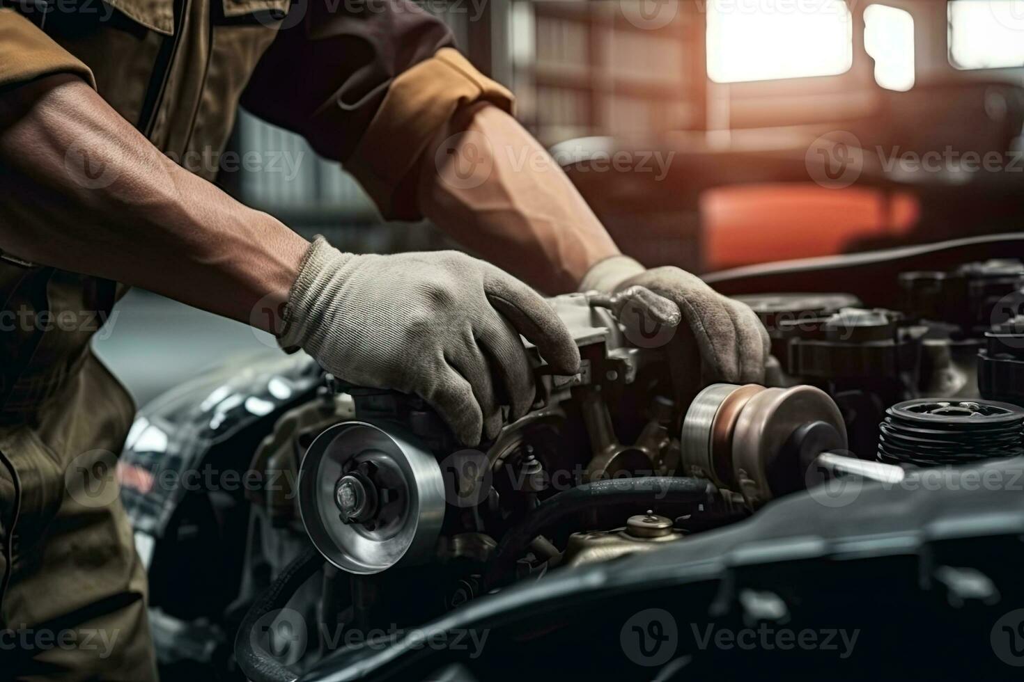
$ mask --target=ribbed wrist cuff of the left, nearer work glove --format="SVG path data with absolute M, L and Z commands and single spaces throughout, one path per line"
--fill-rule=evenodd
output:
M 286 352 L 294 353 L 309 340 L 318 319 L 314 308 L 326 297 L 337 295 L 342 281 L 338 271 L 351 258 L 351 254 L 343 254 L 328 243 L 323 235 L 309 244 L 282 314 L 284 331 L 278 336 L 278 345 Z

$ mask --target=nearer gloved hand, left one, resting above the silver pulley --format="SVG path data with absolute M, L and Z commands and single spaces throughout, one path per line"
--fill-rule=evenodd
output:
M 534 402 L 520 333 L 555 372 L 580 371 L 575 342 L 544 299 L 459 252 L 356 256 L 317 237 L 284 323 L 283 348 L 302 348 L 346 381 L 417 394 L 468 446 L 501 430 L 497 380 L 512 418 Z

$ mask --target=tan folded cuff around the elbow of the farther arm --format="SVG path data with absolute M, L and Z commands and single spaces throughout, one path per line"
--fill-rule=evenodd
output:
M 457 109 L 477 101 L 492 102 L 511 113 L 514 98 L 451 47 L 442 47 L 394 79 L 345 164 L 384 218 L 422 218 L 411 195 L 415 188 L 402 186 L 402 180 L 436 131 Z

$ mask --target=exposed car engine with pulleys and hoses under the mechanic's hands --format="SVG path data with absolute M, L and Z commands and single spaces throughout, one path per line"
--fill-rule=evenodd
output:
M 346 384 L 303 356 L 158 401 L 120 473 L 162 664 L 280 679 L 260 671 L 342 648 L 249 638 L 286 585 L 306 622 L 412 627 L 555 570 L 684 547 L 801 491 L 1024 455 L 1024 265 L 893 286 L 899 310 L 843 292 L 737 297 L 769 330 L 765 385 L 706 385 L 648 291 L 557 297 L 581 372 L 551 374 L 527 346 L 531 410 L 473 449 L 418 397 Z M 207 468 L 220 486 L 153 485 Z M 253 483 L 227 490 L 224 471 Z

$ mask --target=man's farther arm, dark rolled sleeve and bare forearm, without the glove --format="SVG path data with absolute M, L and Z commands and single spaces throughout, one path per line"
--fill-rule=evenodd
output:
M 548 292 L 572 290 L 618 249 L 561 169 L 505 113 L 512 94 L 453 48 L 451 31 L 413 2 L 310 2 L 260 58 L 242 104 L 341 162 L 385 218 L 427 216 Z M 308 64 L 302 78 L 297 64 Z M 458 132 L 469 135 L 452 149 Z M 465 148 L 481 136 L 494 144 Z M 465 164 L 478 166 L 469 183 L 458 177 Z M 486 183 L 473 182 L 484 170 Z

